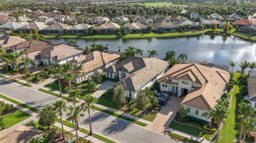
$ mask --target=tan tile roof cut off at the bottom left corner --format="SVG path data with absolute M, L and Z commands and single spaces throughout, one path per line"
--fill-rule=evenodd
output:
M 0 136 L 0 143 L 15 142 L 27 143 L 32 138 L 39 138 L 44 133 L 35 127 L 26 127 L 25 125 L 18 126 L 14 131 L 7 131 L 5 135 Z

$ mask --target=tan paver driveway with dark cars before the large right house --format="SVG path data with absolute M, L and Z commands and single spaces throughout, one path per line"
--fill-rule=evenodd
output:
M 171 96 L 168 103 L 161 106 L 161 110 L 149 125 L 146 127 L 158 133 L 167 132 L 167 128 L 171 123 L 171 120 L 175 117 L 176 112 L 181 108 L 181 101 L 183 98 Z

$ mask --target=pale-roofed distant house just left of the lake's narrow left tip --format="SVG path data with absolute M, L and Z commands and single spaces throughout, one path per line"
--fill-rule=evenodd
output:
M 46 28 L 48 25 L 46 25 L 43 22 L 30 22 L 30 24 L 26 24 L 22 27 L 17 28 L 18 31 L 24 31 L 26 33 L 30 33 L 30 31 L 38 30 L 41 31 L 41 29 Z

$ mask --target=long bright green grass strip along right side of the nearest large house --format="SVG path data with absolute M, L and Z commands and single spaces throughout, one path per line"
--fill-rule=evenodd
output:
M 238 104 L 242 101 L 243 95 L 240 93 L 240 87 L 242 85 L 238 84 L 238 78 L 240 73 L 235 72 L 234 78 L 236 82 L 236 87 L 234 91 L 231 92 L 232 100 L 231 107 L 229 109 L 228 118 L 225 119 L 225 123 L 221 128 L 221 138 L 219 142 L 233 142 L 234 139 L 238 138 L 239 128 L 238 128 Z M 249 139 L 245 139 L 245 142 L 253 142 Z

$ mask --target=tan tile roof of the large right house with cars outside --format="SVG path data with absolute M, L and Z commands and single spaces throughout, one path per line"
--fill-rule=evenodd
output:
M 184 76 L 186 75 L 186 76 Z M 158 82 L 166 79 L 184 79 L 190 80 L 201 87 L 192 87 L 192 90 L 181 104 L 199 108 L 201 110 L 210 110 L 217 104 L 217 99 L 221 99 L 226 83 L 230 75 L 227 71 L 215 67 L 205 67 L 196 63 L 183 63 L 173 66 L 165 72 Z M 191 79 L 190 79 L 191 78 Z

